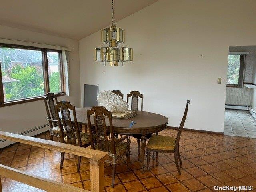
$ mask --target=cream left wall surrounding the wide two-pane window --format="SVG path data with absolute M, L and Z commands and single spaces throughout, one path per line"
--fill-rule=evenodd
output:
M 68 100 L 75 106 L 80 106 L 78 41 L 5 26 L 0 26 L 0 38 L 70 47 L 70 96 L 58 97 L 58 100 Z M 47 122 L 43 100 L 0 107 L 2 131 L 21 133 Z

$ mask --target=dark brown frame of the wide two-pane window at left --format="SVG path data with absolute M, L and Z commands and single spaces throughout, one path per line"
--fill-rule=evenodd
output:
M 42 70 L 43 70 L 43 77 L 44 77 L 44 92 L 50 92 L 50 81 L 49 81 L 49 74 L 48 74 L 48 60 L 47 60 L 47 52 L 58 52 L 60 58 L 60 84 L 61 84 L 61 92 L 56 93 L 56 96 L 64 96 L 66 95 L 65 92 L 65 82 L 64 82 L 64 68 L 62 62 L 62 50 L 55 50 L 55 49 L 47 49 L 47 48 L 39 48 L 33 46 L 23 46 L 23 45 L 16 45 L 16 44 L 4 44 L 0 43 L 0 47 L 7 47 L 7 48 L 17 48 L 17 49 L 27 49 L 27 50 L 36 50 L 42 52 Z M 0 61 L 1 62 L 1 61 Z M 1 63 L 0 63 L 1 66 Z M 15 104 L 33 102 L 38 100 L 43 100 L 46 94 L 42 96 L 35 96 L 30 98 L 23 98 L 17 99 L 12 101 L 4 101 L 4 89 L 3 89 L 3 82 L 2 82 L 2 68 L 0 67 L 0 107 L 10 106 Z

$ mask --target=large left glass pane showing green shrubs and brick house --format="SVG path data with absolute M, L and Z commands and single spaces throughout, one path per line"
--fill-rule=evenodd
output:
M 0 47 L 4 101 L 44 95 L 42 52 Z

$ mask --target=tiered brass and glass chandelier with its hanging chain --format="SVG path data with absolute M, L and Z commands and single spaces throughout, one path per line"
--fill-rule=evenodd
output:
M 101 41 L 104 47 L 95 48 L 95 61 L 110 62 L 110 66 L 118 66 L 118 61 L 132 61 L 132 48 L 120 47 L 124 42 L 124 30 L 117 28 L 114 24 L 114 4 L 112 0 L 112 25 L 109 28 L 101 30 Z

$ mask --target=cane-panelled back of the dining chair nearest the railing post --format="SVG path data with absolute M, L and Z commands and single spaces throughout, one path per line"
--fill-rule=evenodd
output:
M 97 148 L 98 150 L 110 152 L 110 142 L 108 142 L 108 133 L 106 130 L 106 118 L 109 120 L 109 131 L 110 131 L 110 140 L 111 140 L 111 147 L 112 147 L 112 154 L 116 154 L 116 146 L 114 141 L 114 132 L 113 132 L 113 125 L 112 125 L 112 113 L 108 111 L 103 106 L 94 106 L 91 110 L 87 111 L 87 119 L 88 119 L 88 127 L 89 133 L 91 138 L 92 149 L 95 148 L 93 141 L 93 130 L 90 117 L 94 116 L 94 127 L 95 127 L 95 134 L 96 134 L 96 141 L 97 141 Z

